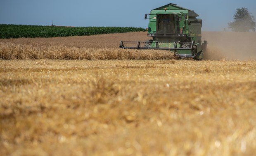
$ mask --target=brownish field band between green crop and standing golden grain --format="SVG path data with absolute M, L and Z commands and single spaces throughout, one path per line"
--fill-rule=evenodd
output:
M 33 46 L 66 46 L 78 48 L 118 48 L 121 40 L 145 41 L 151 39 L 147 32 L 100 34 L 76 37 L 0 39 L 0 42 L 28 44 Z

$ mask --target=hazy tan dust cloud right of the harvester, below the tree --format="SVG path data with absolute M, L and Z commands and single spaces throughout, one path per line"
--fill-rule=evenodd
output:
M 254 60 L 256 59 L 255 32 L 202 32 L 207 40 L 209 60 Z

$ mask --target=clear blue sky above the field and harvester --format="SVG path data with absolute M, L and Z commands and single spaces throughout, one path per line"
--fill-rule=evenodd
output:
M 0 0 L 0 24 L 147 28 L 145 14 L 175 3 L 203 19 L 203 31 L 228 30 L 237 8 L 256 17 L 256 0 Z

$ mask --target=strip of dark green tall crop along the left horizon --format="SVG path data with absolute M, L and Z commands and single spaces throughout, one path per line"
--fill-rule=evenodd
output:
M 39 25 L 0 25 L 0 38 L 35 38 L 35 37 L 69 37 L 88 36 L 96 34 L 113 34 L 125 32 L 146 31 L 133 27 L 56 27 Z

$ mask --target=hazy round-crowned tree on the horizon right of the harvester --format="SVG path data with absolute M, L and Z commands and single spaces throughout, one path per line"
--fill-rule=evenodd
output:
M 246 7 L 237 8 L 234 15 L 235 21 L 228 23 L 228 28 L 235 32 L 255 32 L 255 18 L 252 16 Z

